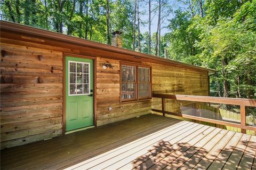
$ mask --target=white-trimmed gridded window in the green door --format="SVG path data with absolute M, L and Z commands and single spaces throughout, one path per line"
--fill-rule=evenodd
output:
M 90 94 L 90 63 L 68 61 L 68 94 Z

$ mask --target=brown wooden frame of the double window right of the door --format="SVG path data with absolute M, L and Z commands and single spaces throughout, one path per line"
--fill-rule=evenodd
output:
M 123 99 L 122 100 L 122 66 L 135 66 L 135 99 Z M 150 100 L 152 99 L 152 67 L 146 64 L 137 64 L 137 63 L 130 63 L 130 62 L 120 62 L 120 103 L 127 103 L 127 102 L 135 102 L 135 101 L 143 101 L 143 100 Z M 149 68 L 149 98 L 145 97 L 145 98 L 139 98 L 139 67 L 142 68 Z

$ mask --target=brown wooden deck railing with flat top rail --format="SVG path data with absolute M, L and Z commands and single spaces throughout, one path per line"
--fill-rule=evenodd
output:
M 153 98 L 161 98 L 162 99 L 162 110 L 152 109 L 152 111 L 161 112 L 163 114 L 163 116 L 165 116 L 165 114 L 169 114 L 169 115 L 179 116 L 179 117 L 193 119 L 193 120 L 199 120 L 199 121 L 213 123 L 213 124 L 241 128 L 242 133 L 246 133 L 246 130 L 254 131 L 256 133 L 256 127 L 246 125 L 246 114 L 245 114 L 245 106 L 256 107 L 256 100 L 237 99 L 237 98 L 217 98 L 217 97 L 210 97 L 210 96 L 195 96 L 195 95 L 159 94 L 159 93 L 153 93 Z M 191 101 L 191 102 L 221 103 L 221 104 L 238 105 L 238 106 L 240 106 L 240 115 L 241 115 L 240 124 L 167 111 L 165 99 L 173 99 L 173 100 L 177 100 L 177 101 Z

